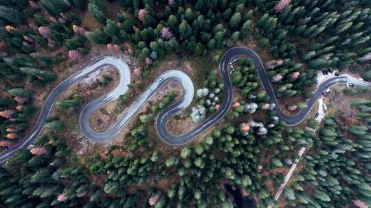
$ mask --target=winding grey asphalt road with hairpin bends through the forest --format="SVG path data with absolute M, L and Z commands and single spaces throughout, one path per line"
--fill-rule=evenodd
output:
M 102 66 L 107 65 L 114 66 L 115 70 L 117 70 L 117 72 L 120 74 L 120 83 L 114 90 L 112 90 L 108 94 L 104 94 L 95 101 L 92 101 L 82 109 L 79 119 L 79 125 L 82 133 L 84 133 L 87 138 L 93 140 L 94 142 L 108 142 L 112 140 L 115 135 L 117 135 L 117 133 L 120 133 L 120 131 L 128 124 L 128 122 L 133 119 L 139 109 L 142 109 L 143 105 L 150 99 L 151 96 L 153 96 L 153 94 L 155 94 L 155 92 L 157 92 L 157 90 L 166 81 L 174 80 L 181 83 L 181 86 L 183 87 L 183 96 L 179 101 L 170 105 L 159 113 L 156 120 L 157 133 L 159 135 L 159 138 L 161 138 L 161 140 L 169 145 L 179 146 L 186 144 L 187 142 L 190 142 L 191 140 L 196 138 L 197 135 L 203 133 L 203 131 L 206 131 L 210 127 L 216 125 L 216 123 L 222 120 L 229 112 L 233 99 L 233 87 L 231 79 L 229 77 L 228 63 L 230 60 L 232 60 L 233 57 L 236 57 L 237 55 L 245 55 L 253 60 L 262 86 L 265 88 L 265 91 L 267 92 L 269 99 L 271 99 L 271 102 L 276 103 L 277 116 L 281 120 L 284 120 L 286 122 L 286 125 L 289 126 L 294 126 L 302 122 L 302 120 L 304 120 L 306 116 L 308 116 L 308 113 L 311 111 L 313 105 L 315 104 L 317 99 L 319 99 L 319 96 L 321 96 L 322 92 L 324 92 L 324 90 L 326 90 L 330 86 L 338 83 L 353 83 L 355 84 L 355 86 L 371 87 L 371 83 L 359 81 L 358 79 L 354 79 L 352 77 L 339 76 L 330 78 L 319 85 L 319 88 L 314 92 L 311 99 L 309 99 L 308 107 L 303 109 L 299 114 L 295 116 L 285 116 L 278 105 L 278 101 L 269 81 L 269 77 L 265 71 L 264 65 L 262 64 L 262 60 L 260 60 L 259 55 L 256 54 L 253 49 L 250 49 L 248 47 L 234 47 L 232 49 L 229 49 L 223 55 L 219 66 L 225 92 L 220 110 L 216 112 L 216 114 L 210 116 L 210 118 L 207 118 L 207 120 L 201 122 L 191 131 L 188 131 L 183 135 L 172 135 L 167 131 L 166 123 L 168 119 L 175 113 L 188 107 L 192 102 L 194 96 L 194 86 L 190 77 L 188 77 L 188 75 L 181 72 L 180 70 L 168 70 L 165 73 L 159 75 L 159 77 L 157 77 L 157 79 L 155 79 L 155 81 L 150 84 L 150 86 L 137 98 L 133 105 L 131 105 L 131 107 L 128 107 L 124 114 L 122 114 L 120 118 L 118 118 L 117 121 L 113 125 L 111 125 L 108 130 L 103 132 L 95 132 L 93 131 L 93 129 L 91 129 L 91 126 L 89 124 L 89 118 L 91 117 L 91 114 L 93 114 L 96 109 L 102 107 L 102 105 L 104 105 L 105 103 L 109 103 L 117 99 L 120 95 L 125 94 L 128 90 L 128 84 L 131 81 L 130 69 L 124 61 L 115 57 L 102 57 L 100 60 L 93 62 L 93 64 L 85 66 L 75 75 L 72 75 L 71 77 L 65 79 L 64 81 L 59 83 L 58 86 L 54 88 L 54 90 L 52 90 L 52 92 L 47 97 L 43 108 L 41 109 L 41 113 L 38 117 L 38 121 L 36 122 L 34 129 L 32 130 L 32 133 L 30 133 L 30 135 L 28 135 L 27 138 L 25 138 L 21 143 L 12 146 L 7 151 L 1 153 L 0 163 L 6 161 L 6 159 L 14 155 L 14 153 L 16 153 L 16 151 L 19 151 L 21 148 L 25 148 L 32 144 L 32 142 L 38 137 L 38 135 L 40 135 L 40 133 L 43 131 L 45 120 L 52 111 L 54 103 L 58 96 L 60 96 L 60 94 L 65 92 L 65 90 L 73 86 L 75 83 L 78 83 L 82 79 L 85 79 L 89 77 L 89 75 L 100 70 Z

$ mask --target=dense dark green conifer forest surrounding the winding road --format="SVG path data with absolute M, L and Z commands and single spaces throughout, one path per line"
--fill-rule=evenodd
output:
M 0 0 L 0 153 L 30 133 L 47 94 L 71 68 L 97 53 L 137 63 L 121 109 L 168 70 L 166 63 L 195 62 L 201 81 L 187 113 L 201 122 L 223 101 L 223 53 L 245 45 L 265 62 L 284 111 L 296 114 L 312 96 L 317 71 L 371 81 L 371 1 Z M 288 127 L 249 58 L 240 57 L 230 76 L 237 96 L 229 114 L 175 147 L 155 129 L 156 116 L 179 96 L 171 91 L 152 101 L 120 142 L 78 153 L 81 138 L 71 132 L 91 98 L 71 90 L 42 135 L 1 165 L 0 207 L 241 207 L 226 184 L 259 208 L 371 207 L 370 88 L 339 87 L 321 122 L 314 113 Z M 89 89 L 111 81 L 103 76 Z M 308 150 L 300 159 L 302 147 Z

